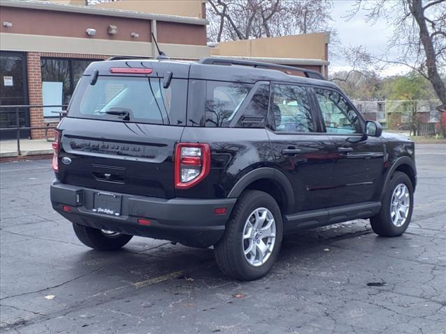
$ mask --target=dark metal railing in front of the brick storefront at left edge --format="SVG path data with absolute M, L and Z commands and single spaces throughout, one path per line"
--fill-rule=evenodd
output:
M 16 132 L 16 140 L 17 140 L 17 154 L 18 155 L 22 155 L 21 154 L 21 150 L 20 150 L 20 132 L 22 131 L 26 131 L 29 130 L 30 132 L 32 130 L 39 130 L 39 129 L 45 129 L 45 139 L 48 140 L 48 130 L 49 129 L 56 129 L 56 125 L 57 123 L 55 122 L 51 122 L 50 120 L 61 120 L 63 118 L 63 116 L 66 115 L 66 111 L 51 111 L 52 113 L 57 113 L 59 114 L 59 116 L 54 116 L 52 118 L 47 118 L 46 120 L 44 119 L 44 122 L 46 122 L 47 124 L 45 126 L 40 126 L 40 127 L 21 127 L 20 123 L 20 113 L 23 113 L 23 109 L 25 109 L 25 124 L 26 121 L 28 120 L 29 122 L 29 116 L 26 115 L 26 109 L 28 109 L 28 111 L 30 111 L 30 109 L 43 109 L 43 108 L 66 108 L 66 106 L 68 106 L 68 104 L 51 104 L 51 105 L 38 105 L 38 104 L 22 104 L 22 105 L 13 105 L 13 106 L 0 106 L 0 118 L 1 118 L 1 122 L 5 122 L 5 120 L 3 120 L 3 115 L 8 115 L 11 113 L 15 113 L 15 127 L 1 127 L 0 128 L 0 134 L 4 133 L 4 132 L 11 132 L 11 131 L 15 131 Z M 43 111 L 42 111 L 43 113 Z M 54 124 L 54 125 L 52 125 Z

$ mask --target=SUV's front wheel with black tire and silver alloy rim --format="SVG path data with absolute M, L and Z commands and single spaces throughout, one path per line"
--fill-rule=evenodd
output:
M 405 191 L 403 192 L 401 189 L 405 189 Z M 394 197 L 394 195 L 396 197 Z M 399 196 L 404 198 L 406 202 L 398 200 L 397 198 L 399 198 Z M 399 206 L 392 206 L 392 200 L 394 200 L 394 203 L 399 202 Z M 403 203 L 406 203 L 406 205 Z M 406 213 L 404 213 L 405 207 L 407 207 Z M 402 211 L 400 211 L 400 209 Z M 396 214 L 395 212 L 398 213 Z M 371 228 L 381 237 L 398 237 L 406 232 L 410 223 L 410 218 L 412 218 L 412 212 L 412 182 L 410 182 L 408 175 L 397 171 L 394 173 L 394 175 L 392 175 L 390 182 L 384 189 L 383 202 L 380 212 L 376 216 L 370 218 Z M 403 218 L 405 219 L 403 220 Z

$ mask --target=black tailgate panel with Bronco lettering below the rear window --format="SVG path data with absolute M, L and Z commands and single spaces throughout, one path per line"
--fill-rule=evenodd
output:
M 174 148 L 183 127 L 65 118 L 59 129 L 61 182 L 148 197 L 175 197 Z

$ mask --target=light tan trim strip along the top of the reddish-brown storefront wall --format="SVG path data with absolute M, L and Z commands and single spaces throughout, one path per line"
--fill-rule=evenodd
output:
M 206 19 L 199 19 L 194 17 L 151 14 L 144 12 L 135 12 L 132 10 L 108 9 L 108 8 L 99 8 L 95 6 L 75 6 L 75 5 L 68 5 L 65 3 L 49 3 L 44 1 L 32 1 L 32 0 L 2 0 L 0 2 L 0 6 L 36 9 L 36 10 L 54 10 L 59 12 L 79 13 L 79 14 L 89 14 L 89 15 L 128 17 L 132 19 L 151 19 L 151 20 L 166 21 L 166 22 L 198 24 L 203 26 L 209 23 Z

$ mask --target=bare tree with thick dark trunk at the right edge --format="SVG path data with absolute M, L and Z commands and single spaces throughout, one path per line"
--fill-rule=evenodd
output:
M 367 10 L 372 24 L 380 17 L 395 27 L 385 55 L 369 55 L 376 61 L 401 64 L 428 79 L 438 98 L 446 103 L 446 1 L 445 0 L 357 0 L 351 17 Z M 398 54 L 398 56 L 388 56 Z

